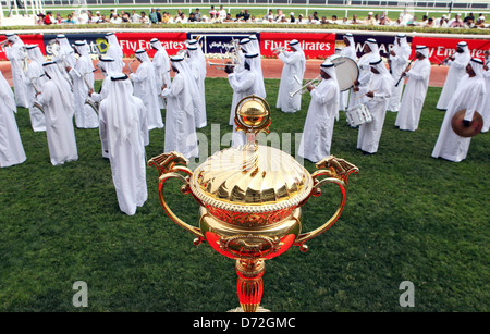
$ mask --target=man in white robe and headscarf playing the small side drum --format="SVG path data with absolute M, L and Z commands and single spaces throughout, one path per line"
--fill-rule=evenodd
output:
M 368 98 L 366 107 L 371 114 L 372 121 L 359 126 L 357 149 L 365 154 L 373 154 L 378 151 L 379 140 L 383 131 L 384 117 L 387 115 L 388 101 L 393 87 L 393 78 L 384 66 L 382 59 L 370 62 L 371 81 L 368 86 L 359 89 Z

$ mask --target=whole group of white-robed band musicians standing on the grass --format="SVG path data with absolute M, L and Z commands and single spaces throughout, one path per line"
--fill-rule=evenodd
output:
M 164 127 L 166 151 L 198 157 L 196 128 L 207 125 L 207 62 L 197 40 L 187 41 L 184 52 L 169 57 L 161 42 L 154 38 L 150 41 L 156 50 L 154 58 L 144 49 L 137 50 L 134 61 L 139 65 L 134 72 L 131 63 L 127 64 L 130 75 L 126 75 L 123 52 L 113 33 L 106 35 L 109 48 L 96 66 L 86 41 L 70 45 L 64 35 L 58 35 L 53 58 L 46 62 L 38 46 L 25 46 L 15 34 L 5 37 L 2 47 L 11 61 L 15 94 L 1 75 L 0 109 L 7 121 L 0 128 L 0 166 L 26 159 L 13 116 L 16 107 L 29 110 L 33 131 L 46 131 L 53 165 L 78 158 L 73 117 L 78 128 L 98 127 L 102 157 L 111 162 L 118 201 L 127 214 L 134 214 L 147 198 L 143 181 L 150 129 Z M 285 113 L 297 112 L 302 95 L 308 91 L 311 96 L 298 153 L 313 162 L 330 156 L 339 111 L 346 113 L 350 125 L 358 126 L 357 148 L 365 154 L 377 152 L 387 111 L 397 112 L 395 126 L 400 129 L 418 128 L 431 69 L 428 48 L 417 46 L 414 59 L 409 60 L 406 36 L 399 34 L 387 69 L 376 39 L 365 42 L 359 59 L 354 36 L 345 34 L 343 40 L 345 47 L 339 57 L 354 63 L 354 71 L 342 73 L 341 62 L 329 58 L 321 63 L 319 76 L 306 85 L 303 85 L 306 58 L 301 42 L 292 40 L 287 47 L 274 50 L 283 62 L 275 107 Z M 266 98 L 257 37 L 250 35 L 236 41 L 232 60 L 224 71 L 233 88 L 232 145 L 240 146 L 245 143 L 245 136 L 234 128 L 237 102 L 252 95 Z M 481 114 L 482 131 L 488 131 L 490 103 L 483 100 L 490 96 L 485 94 L 490 71 L 479 59 L 470 59 L 466 42 L 458 44 L 457 52 L 446 63 L 450 65 L 448 79 L 437 106 L 446 110 L 446 114 L 432 157 L 461 161 L 466 158 L 470 136 L 456 134 L 452 121 L 456 112 L 464 110 L 460 116 L 461 128 L 469 132 L 477 125 L 475 115 Z M 99 69 L 105 79 L 96 92 L 94 72 Z M 175 73 L 173 79 L 171 71 Z M 352 76 L 347 86 L 343 84 L 345 76 Z M 164 124 L 161 109 L 167 110 Z M 358 122 L 353 124 L 353 119 Z

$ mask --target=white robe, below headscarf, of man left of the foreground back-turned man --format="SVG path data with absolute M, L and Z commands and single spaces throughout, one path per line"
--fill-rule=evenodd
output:
M 52 81 L 45 84 L 38 101 L 42 104 L 46 116 L 46 136 L 51 163 L 63 164 L 66 161 L 78 160 L 75 129 L 73 127 L 73 99 L 71 106 L 63 103 L 62 94 Z

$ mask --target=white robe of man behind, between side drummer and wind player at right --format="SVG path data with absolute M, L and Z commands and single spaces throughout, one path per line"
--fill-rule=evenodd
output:
M 402 47 L 399 47 L 397 42 L 395 41 L 395 47 L 393 48 L 393 51 L 396 53 L 396 55 L 390 54 L 391 76 L 393 77 L 393 90 L 391 94 L 391 98 L 388 102 L 388 110 L 397 112 L 400 110 L 400 103 L 402 101 L 402 92 L 403 92 L 405 78 L 402 78 L 400 81 L 399 86 L 395 87 L 395 85 L 399 82 L 402 73 L 406 69 L 412 50 L 408 45 L 406 45 L 405 48 L 402 48 Z

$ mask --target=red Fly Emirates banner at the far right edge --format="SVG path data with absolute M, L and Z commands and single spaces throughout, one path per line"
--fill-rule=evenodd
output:
M 439 64 L 446 57 L 456 51 L 457 44 L 466 41 L 471 58 L 483 60 L 485 51 L 490 49 L 490 39 L 464 39 L 464 38 L 444 38 L 444 37 L 414 37 L 412 39 L 412 53 L 416 46 L 427 46 L 429 48 L 429 60 L 431 63 Z

